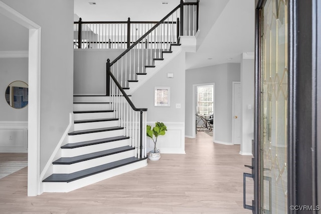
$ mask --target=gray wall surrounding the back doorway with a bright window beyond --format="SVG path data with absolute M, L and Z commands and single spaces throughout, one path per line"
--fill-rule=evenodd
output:
M 229 63 L 186 71 L 185 134 L 193 136 L 193 85 L 215 83 L 214 139 L 232 142 L 232 82 L 240 81 L 240 64 Z

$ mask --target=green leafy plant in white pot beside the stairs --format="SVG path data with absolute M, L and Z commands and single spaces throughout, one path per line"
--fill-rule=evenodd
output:
M 161 151 L 156 149 L 156 142 L 157 142 L 158 136 L 165 135 L 166 131 L 167 131 L 167 127 L 162 122 L 156 122 L 153 128 L 151 128 L 150 125 L 146 126 L 146 135 L 150 137 L 154 142 L 154 149 L 149 151 L 148 159 L 159 160 L 159 158 L 161 158 Z

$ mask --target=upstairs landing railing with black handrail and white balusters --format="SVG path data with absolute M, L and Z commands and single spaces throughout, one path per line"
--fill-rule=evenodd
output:
M 184 3 L 181 0 L 176 13 L 172 14 L 168 22 L 163 23 L 172 31 L 171 34 L 175 32 L 176 40 L 179 36 L 195 36 L 198 31 L 198 2 L 199 0 L 195 3 Z M 78 22 L 74 22 L 74 49 L 127 49 L 157 23 L 133 22 L 130 18 L 119 22 L 83 22 L 80 18 Z M 161 33 L 163 35 L 160 35 Z M 167 33 L 168 31 L 163 29 L 159 35 L 166 38 Z

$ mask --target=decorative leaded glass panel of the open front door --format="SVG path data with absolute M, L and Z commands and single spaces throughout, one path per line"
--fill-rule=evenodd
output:
M 287 213 L 287 0 L 261 9 L 261 213 Z

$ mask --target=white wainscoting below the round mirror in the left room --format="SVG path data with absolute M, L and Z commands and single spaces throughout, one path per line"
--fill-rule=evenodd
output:
M 28 152 L 28 121 L 0 121 L 0 152 Z

